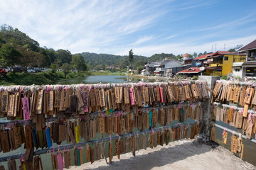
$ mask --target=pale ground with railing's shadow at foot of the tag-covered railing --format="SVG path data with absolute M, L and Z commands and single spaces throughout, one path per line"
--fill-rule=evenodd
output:
M 108 159 L 107 159 L 108 161 Z M 72 166 L 71 169 L 256 169 L 221 146 L 205 145 L 197 140 L 170 142 L 164 147 L 140 149 L 114 157 L 112 164 L 100 159 L 93 164 Z

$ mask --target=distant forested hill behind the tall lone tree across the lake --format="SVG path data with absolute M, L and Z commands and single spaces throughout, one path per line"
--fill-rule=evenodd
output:
M 127 52 L 128 53 L 128 52 Z M 82 57 L 85 58 L 87 65 L 92 69 L 105 68 L 107 65 L 120 65 L 122 69 L 126 68 L 129 65 L 128 56 L 124 55 L 108 55 L 108 54 L 96 54 L 90 52 L 82 52 Z M 141 55 L 134 55 L 134 64 L 133 67 L 137 68 L 144 66 L 146 62 L 155 62 L 159 60 L 164 60 L 164 58 L 169 57 L 169 59 L 177 60 L 180 58 L 180 55 L 177 57 L 173 54 L 155 54 L 151 57 L 145 57 Z

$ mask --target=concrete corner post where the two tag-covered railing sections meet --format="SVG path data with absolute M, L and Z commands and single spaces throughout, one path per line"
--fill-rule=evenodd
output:
M 206 81 L 207 86 L 210 87 L 210 89 L 214 88 L 215 82 L 219 79 L 220 77 L 215 77 L 215 76 L 199 76 L 199 80 Z M 208 94 L 210 97 L 203 102 L 203 123 L 198 136 L 198 140 L 202 140 L 203 142 L 210 141 L 210 130 L 211 130 L 210 123 L 211 123 L 211 113 L 213 111 L 213 106 L 210 104 L 210 100 L 211 100 L 210 91 L 208 91 Z

